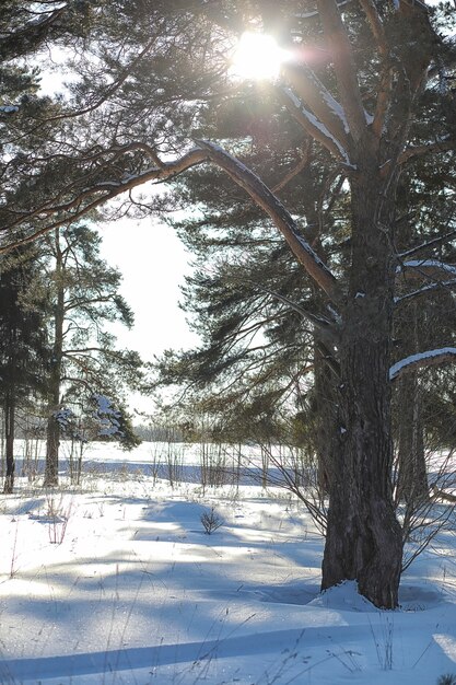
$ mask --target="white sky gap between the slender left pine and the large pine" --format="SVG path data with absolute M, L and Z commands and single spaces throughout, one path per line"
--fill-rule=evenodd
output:
M 116 325 L 118 347 L 137 350 L 152 361 L 168 348 L 189 348 L 197 344 L 179 310 L 179 285 L 190 272 L 189 255 L 172 228 L 156 219 L 122 219 L 101 228 L 101 255 L 124 276 L 120 293 L 135 312 L 135 326 L 128 330 Z M 132 407 L 152 411 L 150 399 L 135 395 Z

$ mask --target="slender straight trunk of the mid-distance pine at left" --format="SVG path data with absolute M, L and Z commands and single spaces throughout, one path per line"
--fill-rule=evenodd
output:
M 55 487 L 59 481 L 60 426 L 56 413 L 60 409 L 60 380 L 63 350 L 65 288 L 62 275 L 62 252 L 59 230 L 55 233 L 56 248 L 56 307 L 54 315 L 52 367 L 49 375 L 49 404 L 46 434 L 45 487 Z

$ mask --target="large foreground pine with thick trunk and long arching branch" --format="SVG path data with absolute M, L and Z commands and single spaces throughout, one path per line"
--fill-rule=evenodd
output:
M 397 281 L 413 275 L 413 297 L 421 297 L 428 277 L 443 282 L 452 268 L 436 259 L 442 235 L 420 246 L 414 232 L 413 253 L 395 246 L 405 170 L 413 176 L 419 160 L 432 159 L 439 176 L 439 160 L 452 159 L 456 147 L 454 95 L 443 88 L 454 76 L 455 48 L 439 33 L 435 18 L 423 2 L 409 0 L 348 7 L 334 0 L 317 0 L 316 7 L 281 0 L 105 4 L 79 62 L 68 135 L 48 140 L 47 155 L 27 156 L 39 193 L 27 191 L 24 181 L 21 194 L 0 208 L 8 240 L 17 240 L 19 224 L 32 240 L 144 183 L 211 164 L 227 174 L 238 195 L 246 194 L 254 211 L 265 212 L 266 229 L 280 234 L 317 293 L 309 312 L 315 339 L 338 374 L 321 587 L 355 579 L 360 592 L 384 607 L 397 605 L 402 552 L 391 491 L 391 383 L 456 356 L 444 346 L 396 361 L 393 350 Z M 223 92 L 235 96 L 226 58 L 245 26 L 274 27 L 294 55 L 270 86 L 276 108 L 287 111 L 343 177 L 343 272 L 330 249 L 321 258 L 313 247 L 315 235 L 300 224 L 293 205 L 262 182 L 268 170 L 255 174 L 241 163 L 247 161 L 248 140 L 219 138 L 217 121 L 204 128 L 208 103 Z M 84 132 L 71 118 L 73 104 Z M 23 170 L 17 160 L 9 166 L 22 178 Z M 172 202 L 159 197 L 149 206 L 160 210 Z

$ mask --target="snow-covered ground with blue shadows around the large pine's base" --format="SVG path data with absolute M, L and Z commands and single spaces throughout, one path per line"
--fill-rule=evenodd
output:
M 350 583 L 318 593 L 323 539 L 289 494 L 171 488 L 140 468 L 153 450 L 97 445 L 81 487 L 17 478 L 1 497 L 1 684 L 434 685 L 456 674 L 452 532 L 404 576 L 401 608 L 379 612 Z M 224 523 L 208 535 L 200 516 L 212 507 Z

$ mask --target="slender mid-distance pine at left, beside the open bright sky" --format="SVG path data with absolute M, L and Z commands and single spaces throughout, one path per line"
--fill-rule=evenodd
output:
M 85 224 L 56 229 L 43 243 L 43 249 L 50 254 L 48 298 L 52 312 L 45 486 L 58 483 L 62 409 L 89 406 L 94 393 L 122 405 L 126 390 L 136 390 L 141 381 L 139 356 L 116 349 L 115 336 L 106 332 L 113 322 L 130 327 L 133 315 L 118 292 L 120 272 L 100 257 L 100 235 Z M 127 423 L 117 438 L 127 444 L 131 430 L 127 430 L 125 409 L 120 418 Z

